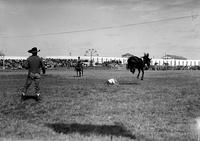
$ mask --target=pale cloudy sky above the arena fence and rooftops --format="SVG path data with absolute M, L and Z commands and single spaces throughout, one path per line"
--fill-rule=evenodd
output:
M 199 0 L 0 0 L 0 51 L 200 59 Z

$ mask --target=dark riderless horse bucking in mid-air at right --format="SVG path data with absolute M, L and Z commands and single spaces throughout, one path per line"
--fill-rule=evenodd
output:
M 141 80 L 143 80 L 144 69 L 145 69 L 145 67 L 147 69 L 149 69 L 151 59 L 149 58 L 149 54 L 147 53 L 147 54 L 144 54 L 144 56 L 141 57 L 141 58 L 139 58 L 137 56 L 131 56 L 131 57 L 128 58 L 127 62 L 128 62 L 127 69 L 129 69 L 133 74 L 135 72 L 135 69 L 138 69 L 137 78 L 139 78 L 140 71 L 142 71 Z

